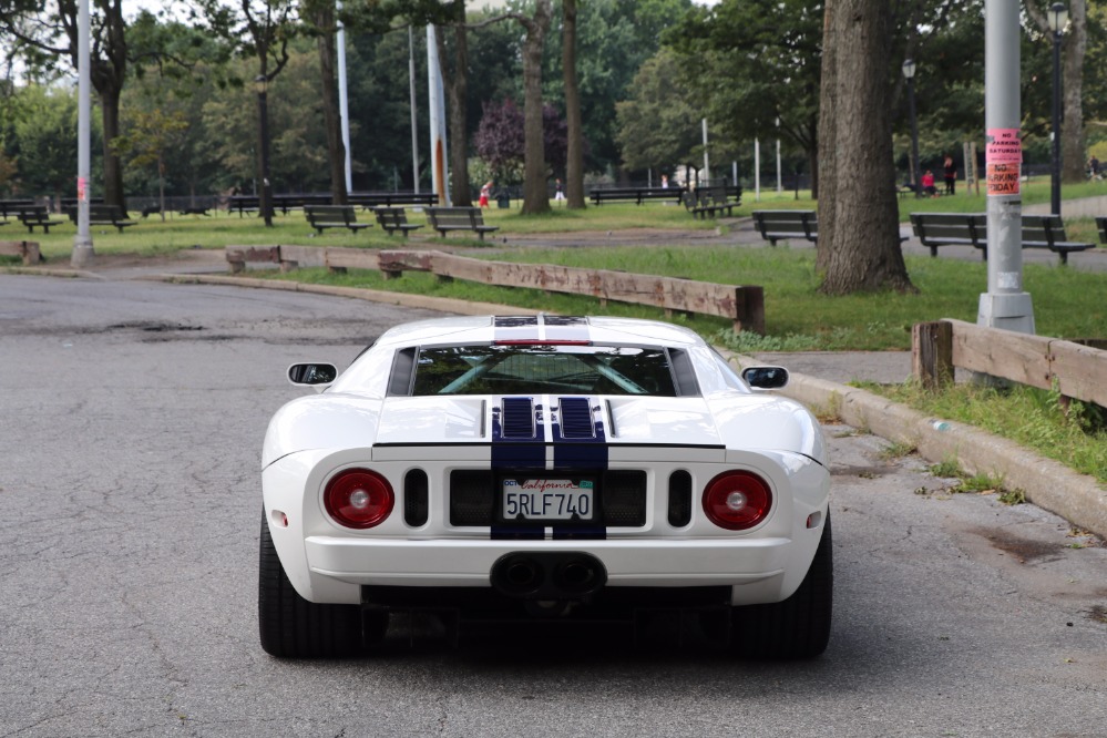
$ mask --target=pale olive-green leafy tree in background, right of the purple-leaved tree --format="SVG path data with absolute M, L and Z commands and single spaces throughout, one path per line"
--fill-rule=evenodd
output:
M 632 96 L 615 103 L 616 141 L 629 170 L 659 168 L 688 161 L 699 145 L 700 125 L 677 55 L 662 49 L 646 61 L 631 85 Z

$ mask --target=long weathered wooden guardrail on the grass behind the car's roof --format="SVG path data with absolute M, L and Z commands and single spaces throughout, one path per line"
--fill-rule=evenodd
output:
M 243 271 L 249 262 L 279 264 L 283 270 L 297 266 L 326 266 L 334 270 L 377 269 L 386 278 L 396 278 L 404 270 L 430 271 L 445 279 L 588 295 L 598 298 L 601 305 L 615 300 L 659 307 L 666 315 L 678 311 L 719 316 L 729 318 L 735 331 L 765 334 L 765 294 L 761 287 L 752 285 L 717 285 L 550 264 L 489 262 L 437 250 L 227 246 L 226 258 L 235 274 Z

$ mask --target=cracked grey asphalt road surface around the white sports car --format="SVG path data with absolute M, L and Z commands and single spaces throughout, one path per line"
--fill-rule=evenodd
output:
M 845 427 L 814 662 L 664 632 L 451 648 L 419 619 L 368 660 L 265 655 L 258 467 L 300 391 L 285 367 L 430 315 L 0 275 L 0 736 L 1107 736 L 1107 549 Z

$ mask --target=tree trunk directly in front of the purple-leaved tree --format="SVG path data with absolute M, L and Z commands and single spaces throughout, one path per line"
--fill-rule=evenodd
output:
M 550 212 L 546 191 L 545 134 L 542 121 L 542 50 L 550 30 L 550 0 L 537 0 L 534 17 L 525 19 L 526 40 L 523 42 L 523 133 L 525 136 L 523 168 L 523 213 Z

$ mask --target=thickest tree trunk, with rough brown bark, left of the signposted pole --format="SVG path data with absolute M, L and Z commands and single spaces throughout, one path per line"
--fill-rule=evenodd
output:
M 830 295 L 913 289 L 900 247 L 885 0 L 827 3 L 818 267 Z

